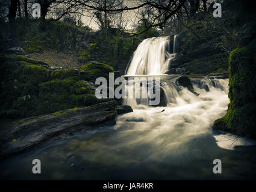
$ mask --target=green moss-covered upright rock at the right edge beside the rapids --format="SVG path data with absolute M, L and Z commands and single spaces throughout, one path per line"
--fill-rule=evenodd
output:
M 256 138 L 256 39 L 229 56 L 228 112 L 213 128 Z

